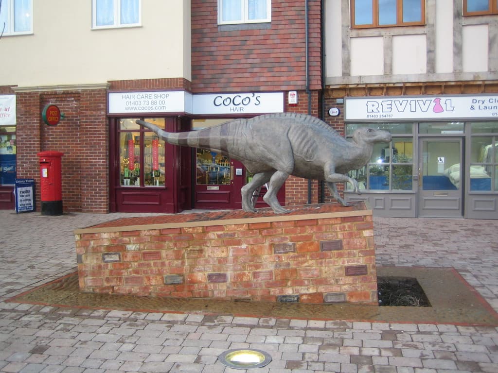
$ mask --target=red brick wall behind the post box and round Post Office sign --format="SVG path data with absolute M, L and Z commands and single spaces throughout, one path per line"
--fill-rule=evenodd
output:
M 35 179 L 40 208 L 39 160 L 46 150 L 63 152 L 62 200 L 65 212 L 108 212 L 109 130 L 107 91 L 77 90 L 17 93 L 17 177 Z M 43 123 L 47 103 L 65 117 L 56 126 Z

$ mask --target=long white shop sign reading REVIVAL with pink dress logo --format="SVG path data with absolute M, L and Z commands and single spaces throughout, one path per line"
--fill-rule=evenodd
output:
M 345 121 L 475 118 L 498 118 L 498 95 L 345 98 Z

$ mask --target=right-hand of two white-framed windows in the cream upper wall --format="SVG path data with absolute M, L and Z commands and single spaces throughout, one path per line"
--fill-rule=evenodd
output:
M 92 0 L 92 27 L 140 26 L 141 9 L 141 0 Z

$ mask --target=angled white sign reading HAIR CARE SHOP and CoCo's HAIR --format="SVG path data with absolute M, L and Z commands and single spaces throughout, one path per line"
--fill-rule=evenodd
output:
M 184 91 L 111 92 L 109 114 L 187 113 L 197 115 L 281 113 L 284 94 L 215 93 Z

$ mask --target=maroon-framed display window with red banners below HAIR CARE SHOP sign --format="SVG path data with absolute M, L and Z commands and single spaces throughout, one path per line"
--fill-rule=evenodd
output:
M 190 174 L 181 165 L 190 154 L 166 144 L 152 131 L 135 123 L 138 118 L 113 118 L 111 131 L 111 212 L 174 213 L 191 208 Z M 140 118 L 142 119 L 142 118 Z M 178 132 L 188 121 L 143 118 L 168 132 Z M 182 123 L 185 122 L 185 123 Z M 113 157 L 114 155 L 114 157 Z M 185 156 L 185 162 L 182 158 Z M 180 166 L 178 166 L 180 165 Z

